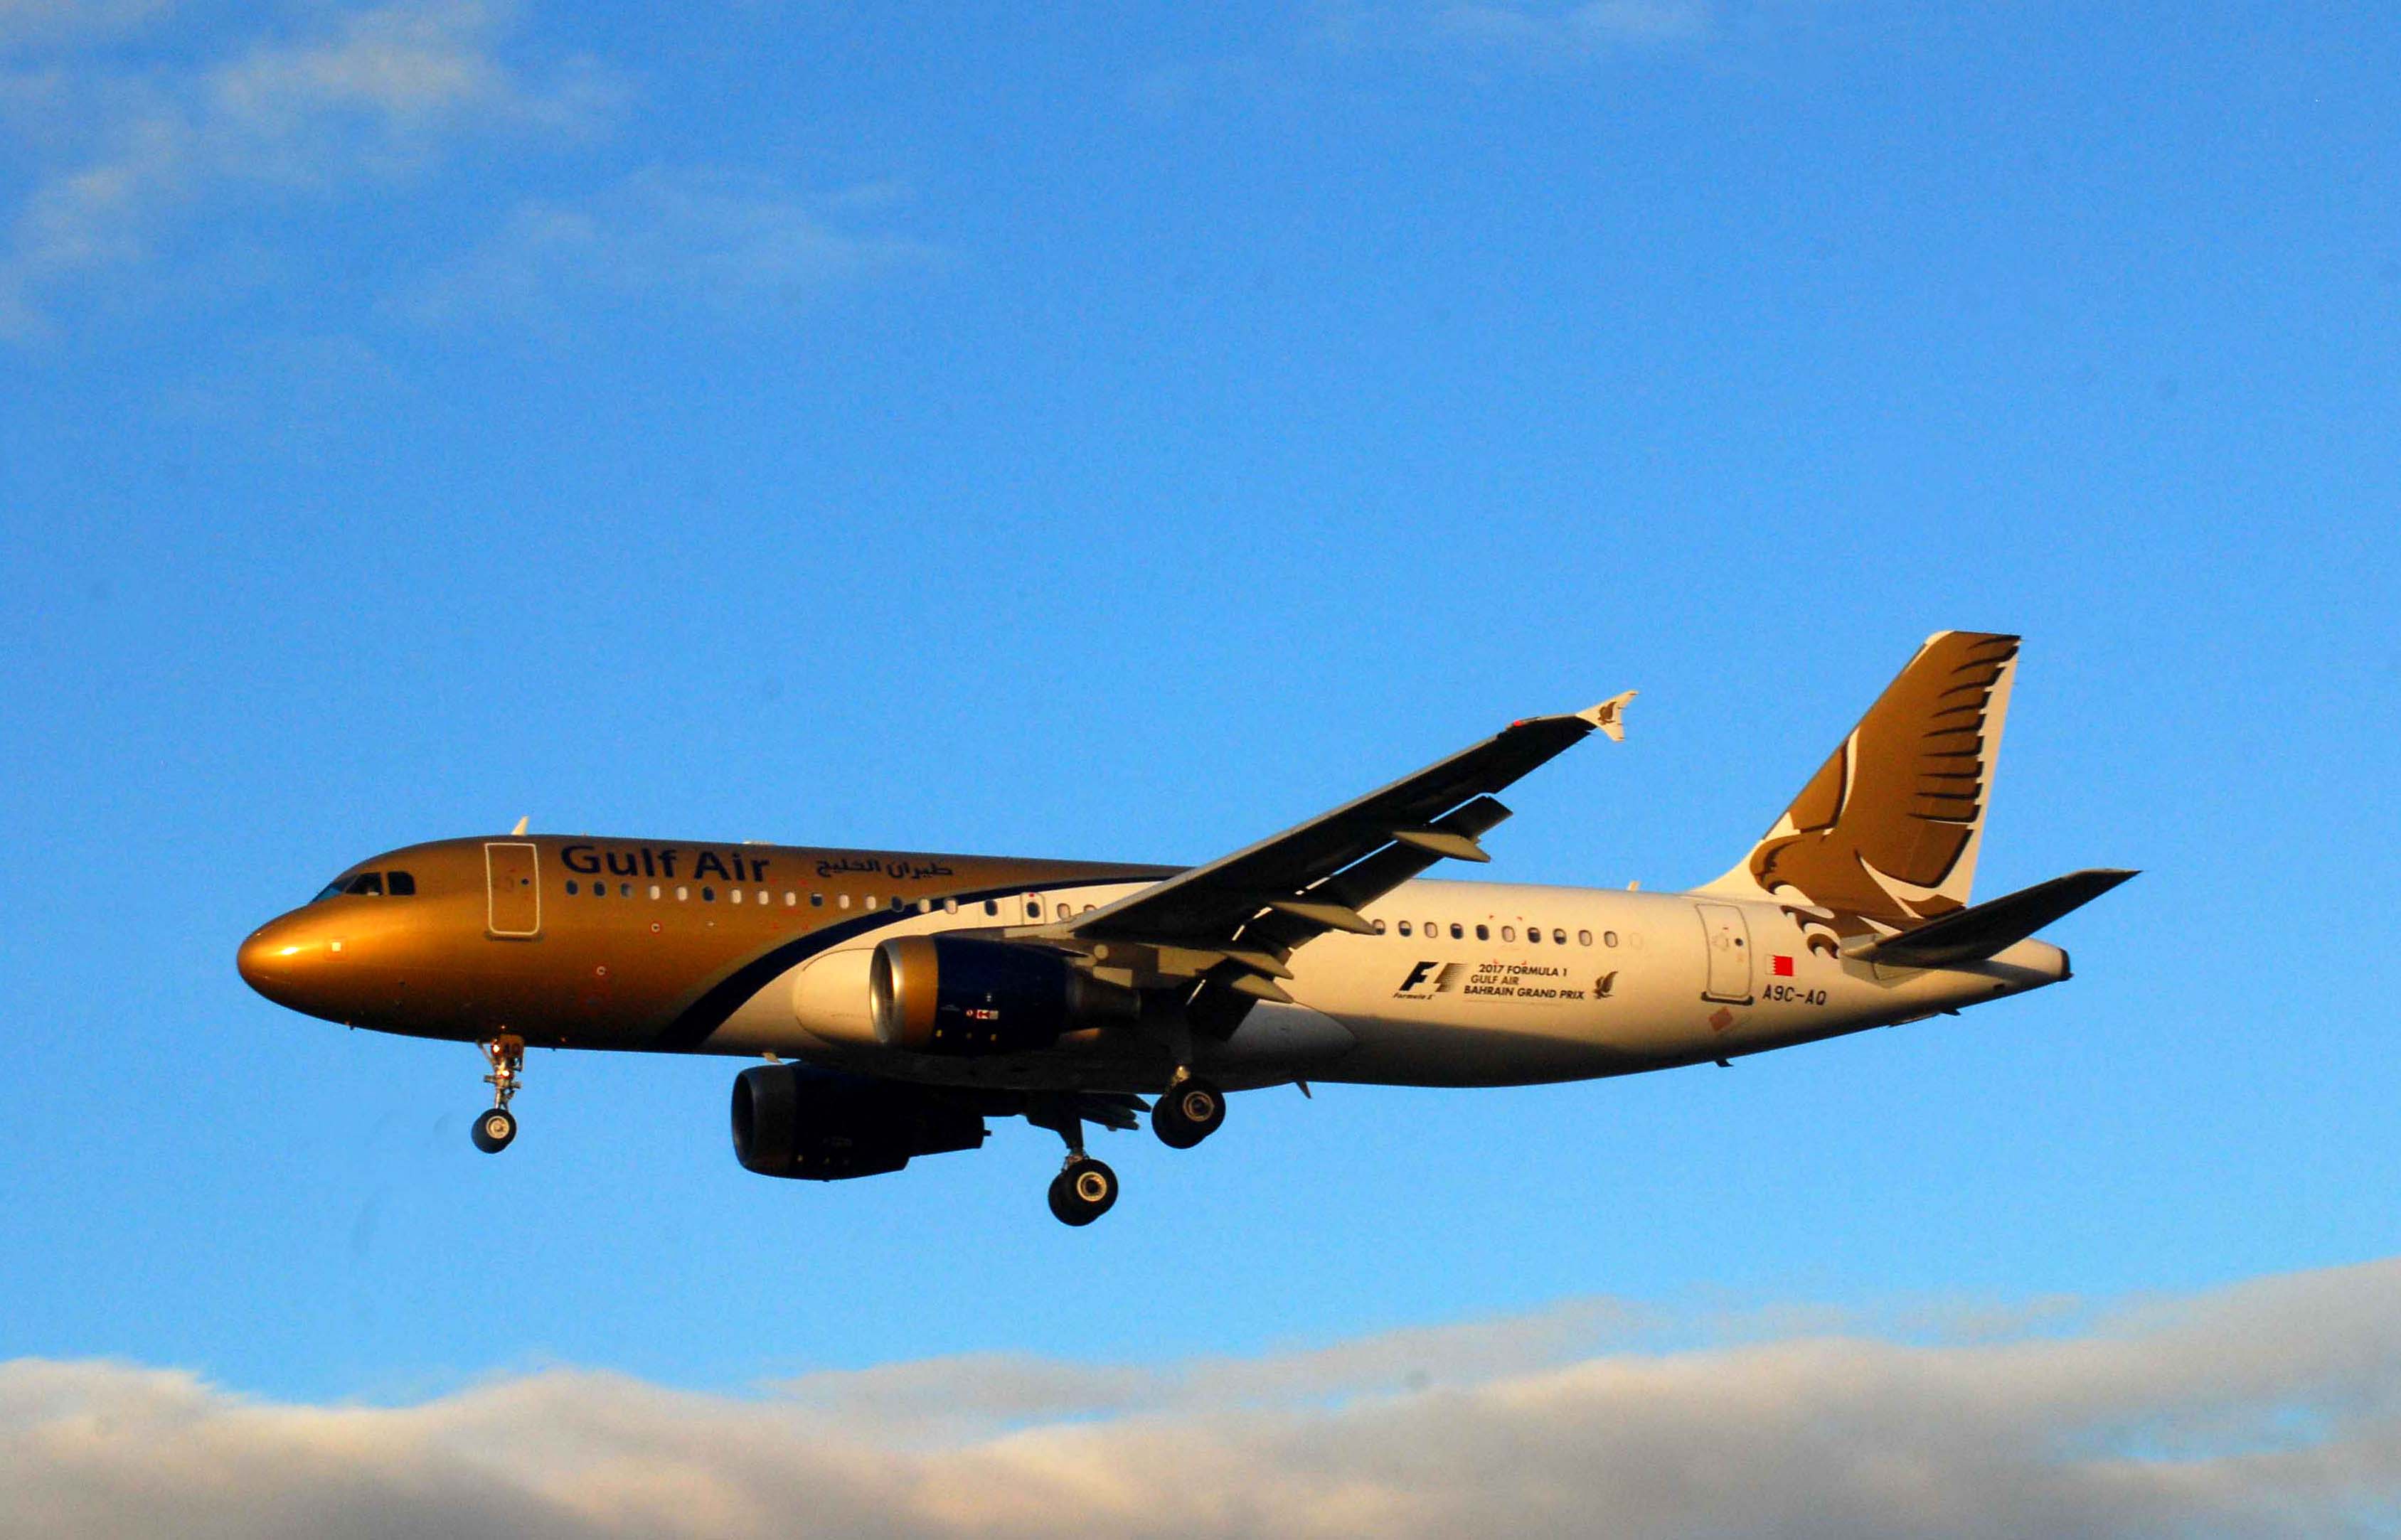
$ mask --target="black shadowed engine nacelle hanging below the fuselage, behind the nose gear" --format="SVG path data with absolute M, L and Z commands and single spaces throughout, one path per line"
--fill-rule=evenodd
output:
M 982 1113 L 924 1087 L 807 1065 L 735 1075 L 735 1159 L 759 1175 L 836 1183 L 982 1142 Z

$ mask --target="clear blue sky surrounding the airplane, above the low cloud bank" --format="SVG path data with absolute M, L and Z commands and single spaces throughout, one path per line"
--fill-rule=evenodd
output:
M 0 5 L 0 1358 L 401 1403 L 2394 1250 L 2375 7 Z M 2067 988 L 785 1185 L 732 1060 L 247 993 L 499 830 L 1198 861 L 1640 688 L 1498 876 L 1717 876 L 1935 628 Z M 1678 1317 L 1686 1319 L 1686 1317 Z M 1700 1334 L 1705 1336 L 1705 1334 Z

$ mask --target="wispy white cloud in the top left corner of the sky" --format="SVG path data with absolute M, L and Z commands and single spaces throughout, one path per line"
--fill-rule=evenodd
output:
M 22 12 L 19 29 L 41 36 L 53 10 L 14 0 L 0 17 Z M 106 10 L 144 14 L 130 0 Z M 389 182 L 468 132 L 574 132 L 607 101 L 588 65 L 528 79 L 504 62 L 504 34 L 507 17 L 473 0 L 399 0 L 214 62 L 134 70 L 70 55 L 19 70 L 0 82 L 0 106 L 36 130 L 22 142 L 43 163 L 0 247 L 0 336 L 38 329 L 60 285 L 149 257 L 180 213 L 262 190 Z

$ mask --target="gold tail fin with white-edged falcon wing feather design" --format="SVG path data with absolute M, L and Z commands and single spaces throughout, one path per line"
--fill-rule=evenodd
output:
M 1743 864 L 1702 892 L 1830 912 L 1837 936 L 1964 907 L 2014 674 L 2014 636 L 1926 638 Z

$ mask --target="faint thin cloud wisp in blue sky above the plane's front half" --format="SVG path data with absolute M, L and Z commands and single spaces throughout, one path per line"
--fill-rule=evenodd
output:
M 768 178 L 651 168 L 586 199 L 521 204 L 480 249 L 425 283 L 406 309 L 425 321 L 559 324 L 610 300 L 715 312 L 804 305 L 934 247 L 862 228 L 893 190 L 809 197 Z

